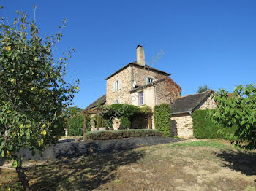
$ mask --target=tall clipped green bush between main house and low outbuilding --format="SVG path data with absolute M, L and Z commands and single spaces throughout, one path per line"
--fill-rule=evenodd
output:
M 162 132 L 163 136 L 170 136 L 170 124 L 170 105 L 154 106 L 154 126 Z

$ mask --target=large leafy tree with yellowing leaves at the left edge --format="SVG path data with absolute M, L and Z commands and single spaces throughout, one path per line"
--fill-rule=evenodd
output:
M 71 52 L 53 59 L 63 27 L 55 36 L 41 38 L 24 12 L 18 12 L 13 24 L 0 25 L 0 157 L 13 161 L 24 190 L 29 183 L 20 148 L 42 153 L 56 143 L 65 124 L 64 109 L 79 90 L 78 81 L 64 81 Z

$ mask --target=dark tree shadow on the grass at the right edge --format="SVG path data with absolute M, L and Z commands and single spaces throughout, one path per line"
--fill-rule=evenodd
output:
M 215 155 L 227 162 L 225 166 L 232 170 L 240 171 L 245 175 L 256 175 L 256 153 L 222 151 Z

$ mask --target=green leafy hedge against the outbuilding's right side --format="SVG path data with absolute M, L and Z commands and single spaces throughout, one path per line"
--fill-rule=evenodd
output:
M 226 133 L 234 133 L 236 128 L 223 128 L 222 126 L 215 125 L 208 117 L 209 110 L 197 110 L 193 112 L 193 129 L 195 138 L 200 139 L 231 139 L 227 137 Z M 223 130 L 224 133 L 217 133 L 218 130 Z M 226 133 L 225 133 L 226 132 Z

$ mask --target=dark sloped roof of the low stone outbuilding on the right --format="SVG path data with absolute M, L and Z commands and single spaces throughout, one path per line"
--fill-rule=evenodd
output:
M 199 106 L 202 101 L 207 99 L 212 93 L 214 93 L 213 90 L 208 90 L 203 93 L 196 93 L 177 98 L 170 106 L 171 114 L 193 112 L 195 108 Z

